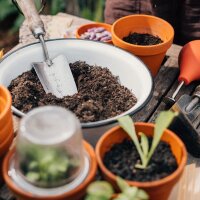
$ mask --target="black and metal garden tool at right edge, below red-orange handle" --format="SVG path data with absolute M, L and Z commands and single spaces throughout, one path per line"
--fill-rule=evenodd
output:
M 200 157 L 200 85 L 192 96 L 181 96 L 171 110 L 179 114 L 169 129 L 183 140 L 193 156 Z

